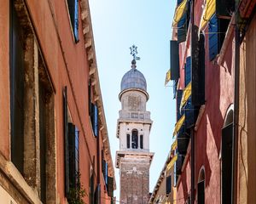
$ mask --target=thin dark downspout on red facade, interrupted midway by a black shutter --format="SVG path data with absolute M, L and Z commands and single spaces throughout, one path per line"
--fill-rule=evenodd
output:
M 192 40 L 193 40 L 193 27 L 195 25 L 194 20 L 194 0 L 191 0 L 191 14 L 190 14 L 190 20 L 191 20 L 191 26 L 190 26 L 190 46 L 192 46 Z M 192 50 L 192 48 L 191 48 Z M 195 130 L 194 126 L 191 128 L 191 152 L 190 152 L 190 160 L 191 160 L 191 203 L 195 203 Z

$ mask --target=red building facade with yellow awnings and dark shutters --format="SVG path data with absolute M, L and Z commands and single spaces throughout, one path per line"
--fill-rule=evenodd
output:
M 231 203 L 234 8 L 232 1 L 177 1 L 171 42 L 176 203 Z

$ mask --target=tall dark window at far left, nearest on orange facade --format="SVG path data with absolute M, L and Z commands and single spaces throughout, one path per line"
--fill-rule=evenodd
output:
M 10 16 L 10 122 L 11 160 L 23 173 L 24 169 L 24 33 L 14 3 Z

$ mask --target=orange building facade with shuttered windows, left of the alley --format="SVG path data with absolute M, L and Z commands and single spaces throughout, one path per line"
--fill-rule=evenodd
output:
M 0 202 L 113 203 L 88 1 L 0 4 Z

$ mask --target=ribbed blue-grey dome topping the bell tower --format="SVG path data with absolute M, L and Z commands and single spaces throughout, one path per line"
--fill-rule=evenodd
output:
M 122 78 L 121 82 L 121 92 L 129 88 L 138 88 L 147 92 L 147 82 L 143 73 L 138 71 L 136 68 L 132 68 L 130 71 L 127 71 Z

